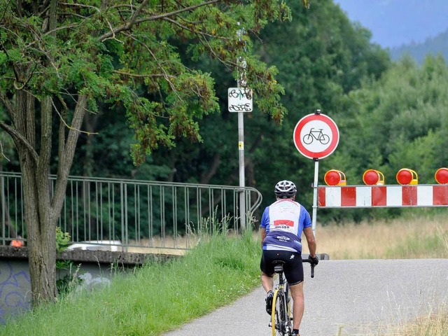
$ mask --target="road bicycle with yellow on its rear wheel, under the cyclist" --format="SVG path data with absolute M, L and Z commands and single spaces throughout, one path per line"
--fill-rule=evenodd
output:
M 311 260 L 302 259 L 302 262 Z M 271 323 L 272 336 L 291 336 L 293 333 L 293 317 L 291 316 L 291 297 L 288 281 L 283 274 L 283 260 L 274 261 L 274 272 L 279 274 L 279 282 L 276 283 L 274 297 L 272 299 Z M 311 278 L 314 278 L 314 264 L 311 264 Z

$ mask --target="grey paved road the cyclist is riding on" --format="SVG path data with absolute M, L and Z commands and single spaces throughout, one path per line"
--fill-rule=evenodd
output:
M 366 336 L 448 303 L 448 259 L 321 260 L 314 279 L 304 266 L 302 336 L 335 336 L 341 328 L 341 336 Z M 262 288 L 257 288 L 165 335 L 272 335 L 264 297 Z

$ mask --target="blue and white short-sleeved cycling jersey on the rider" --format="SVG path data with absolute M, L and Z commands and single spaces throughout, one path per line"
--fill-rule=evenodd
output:
M 263 212 L 260 227 L 266 229 L 263 250 L 302 253 L 302 231 L 311 226 L 307 209 L 293 200 L 278 200 Z

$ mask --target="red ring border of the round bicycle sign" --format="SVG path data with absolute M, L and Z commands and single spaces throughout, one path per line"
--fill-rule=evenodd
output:
M 328 146 L 328 148 L 326 148 L 325 151 L 321 152 L 308 151 L 307 148 L 304 148 L 302 144 L 302 139 L 300 139 L 300 132 L 302 131 L 302 128 L 305 125 L 307 125 L 307 123 L 314 120 L 320 120 L 323 123 L 327 124 L 332 132 L 332 141 L 330 143 L 330 146 Z M 299 151 L 300 154 L 302 154 L 304 157 L 309 159 L 323 159 L 326 158 L 331 153 L 333 153 L 337 147 L 337 144 L 339 144 L 339 130 L 337 128 L 335 121 L 332 120 L 332 118 L 330 118 L 329 116 L 325 116 L 325 114 L 316 114 L 316 113 L 309 114 L 300 119 L 297 125 L 295 125 L 293 140 L 295 148 L 297 148 L 297 151 Z

